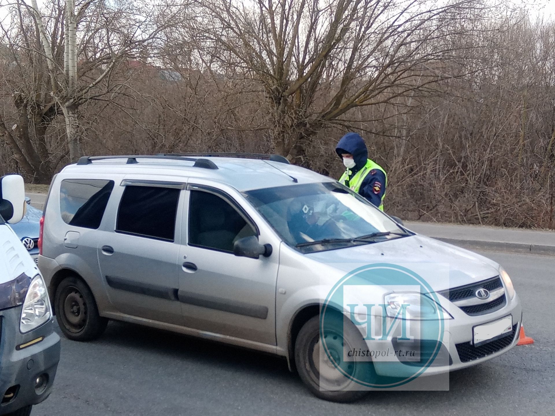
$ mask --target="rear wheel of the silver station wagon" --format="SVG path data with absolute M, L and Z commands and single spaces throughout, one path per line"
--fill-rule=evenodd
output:
M 73 341 L 91 341 L 102 335 L 108 319 L 98 313 L 93 293 L 80 278 L 64 278 L 56 289 L 54 311 L 64 335 Z

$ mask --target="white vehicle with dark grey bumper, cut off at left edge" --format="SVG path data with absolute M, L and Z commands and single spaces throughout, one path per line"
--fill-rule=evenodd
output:
M 0 178 L 0 415 L 28 416 L 52 392 L 60 359 L 46 283 L 12 230 L 25 216 L 23 177 Z

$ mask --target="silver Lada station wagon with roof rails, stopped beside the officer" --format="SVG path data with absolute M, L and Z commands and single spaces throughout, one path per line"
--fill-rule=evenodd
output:
M 417 235 L 280 156 L 84 156 L 53 178 L 41 240 L 38 265 L 69 339 L 97 338 L 117 319 L 269 352 L 328 400 L 366 393 L 351 377 L 360 368 L 392 375 L 378 360 L 355 360 L 347 374 L 334 369 L 344 359 L 337 346 L 372 342 L 348 305 L 326 303 L 358 266 L 448 265 L 446 276 L 424 276 L 429 290 L 418 308 L 403 309 L 416 292 L 369 292 L 412 327 L 443 313 L 449 336 L 435 341 L 444 360 L 431 374 L 507 352 L 522 321 L 511 278 L 496 262 Z M 318 353 L 325 303 L 343 326 L 329 338 L 333 366 Z M 428 341 L 412 339 L 424 358 Z M 414 367 L 393 364 L 396 377 Z

